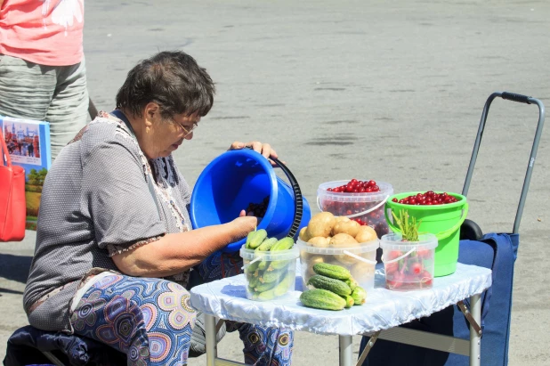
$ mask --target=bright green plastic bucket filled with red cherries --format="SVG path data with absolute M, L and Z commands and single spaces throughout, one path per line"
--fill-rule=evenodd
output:
M 401 209 L 406 209 L 408 215 L 416 217 L 417 221 L 422 220 L 418 232 L 433 233 L 439 242 L 435 248 L 434 272 L 435 277 L 447 276 L 457 270 L 458 262 L 458 241 L 460 239 L 460 225 L 464 223 L 468 214 L 468 202 L 465 196 L 458 193 L 449 193 L 458 201 L 444 205 L 404 205 L 392 202 L 392 199 L 404 199 L 408 196 L 416 196 L 422 191 L 394 194 L 385 203 L 385 219 L 393 232 L 400 232 L 399 227 L 393 224 L 392 213 L 399 215 Z M 442 193 L 442 192 L 436 192 Z

